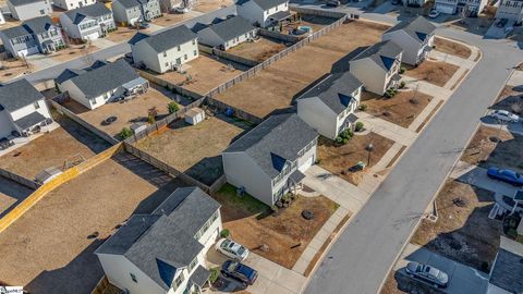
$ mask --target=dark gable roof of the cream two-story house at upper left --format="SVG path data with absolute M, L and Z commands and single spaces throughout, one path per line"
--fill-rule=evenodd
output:
M 159 53 L 196 38 L 196 34 L 188 27 L 180 25 L 155 35 L 137 33 L 129 40 L 129 44 L 136 45 L 139 41 L 146 41 Z

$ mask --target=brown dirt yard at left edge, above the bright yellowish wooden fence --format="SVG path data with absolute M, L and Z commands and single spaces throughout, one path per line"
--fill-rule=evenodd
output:
M 109 147 L 75 122 L 66 118 L 54 119 L 62 127 L 2 156 L 0 168 L 34 179 L 44 169 L 62 169 L 65 160 L 73 161 L 77 156 L 88 159 Z

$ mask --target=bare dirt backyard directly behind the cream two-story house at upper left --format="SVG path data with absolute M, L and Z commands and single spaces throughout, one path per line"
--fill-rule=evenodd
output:
M 240 70 L 228 68 L 227 63 L 204 56 L 186 63 L 185 70 L 185 74 L 168 72 L 158 77 L 203 95 L 241 73 Z M 192 78 L 191 82 L 187 78 Z

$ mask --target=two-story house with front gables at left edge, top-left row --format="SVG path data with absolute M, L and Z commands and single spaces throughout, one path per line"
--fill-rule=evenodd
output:
M 49 53 L 65 48 L 60 27 L 49 16 L 25 21 L 0 32 L 5 50 L 14 58 Z

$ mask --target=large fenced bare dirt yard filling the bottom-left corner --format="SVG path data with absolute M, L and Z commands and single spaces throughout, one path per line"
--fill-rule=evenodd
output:
M 183 186 L 127 154 L 114 158 L 51 191 L 0 234 L 2 282 L 33 294 L 89 294 L 104 275 L 98 246 Z

